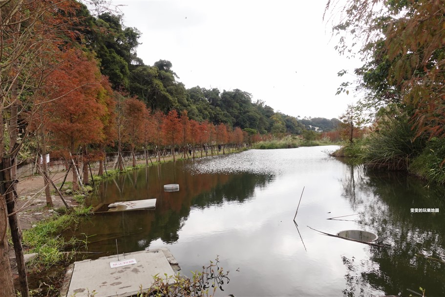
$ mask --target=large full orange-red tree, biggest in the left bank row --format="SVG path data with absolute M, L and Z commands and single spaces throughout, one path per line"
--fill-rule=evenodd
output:
M 100 143 L 106 138 L 101 121 L 107 112 L 102 101 L 105 90 L 92 55 L 70 49 L 63 58 L 45 86 L 50 98 L 45 108 L 51 114 L 47 126 L 54 144 L 76 155 L 80 146 Z M 73 189 L 78 189 L 76 170 L 73 170 Z

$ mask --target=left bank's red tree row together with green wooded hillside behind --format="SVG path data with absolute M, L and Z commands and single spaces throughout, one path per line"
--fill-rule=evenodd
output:
M 71 171 L 72 190 L 85 192 L 90 164 L 99 162 L 103 175 L 109 152 L 117 153 L 114 169 L 124 171 L 125 150 L 135 167 L 137 150 L 154 151 L 157 161 L 169 151 L 173 160 L 178 151 L 194 158 L 197 151 L 226 153 L 260 135 L 305 129 L 247 91 L 186 89 L 170 61 L 144 64 L 136 53 L 138 29 L 112 9 L 92 9 L 97 3 L 91 9 L 75 0 L 1 4 L 0 234 L 9 221 L 22 297 L 29 293 L 15 203 L 19 156 L 35 158 L 52 207 L 56 186 L 47 159 L 39 162 L 48 153 Z M 1 296 L 14 295 L 7 242 L 2 235 Z

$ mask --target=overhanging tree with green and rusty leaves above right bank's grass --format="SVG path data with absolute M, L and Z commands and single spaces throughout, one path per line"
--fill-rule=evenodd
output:
M 327 11 L 338 2 L 328 1 Z M 397 105 L 411 116 L 418 136 L 445 137 L 444 16 L 443 1 L 349 0 L 333 28 L 340 54 L 360 54 L 365 61 L 355 71 L 359 88 L 368 91 L 363 106 L 378 111 Z

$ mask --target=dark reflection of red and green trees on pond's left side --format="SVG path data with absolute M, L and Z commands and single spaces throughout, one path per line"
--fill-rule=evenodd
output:
M 192 209 L 226 202 L 243 203 L 254 197 L 255 188 L 273 179 L 271 175 L 252 173 L 191 175 L 182 170 L 182 166 L 183 162 L 176 161 L 147 167 L 100 183 L 99 196 L 91 202 L 93 205 L 156 198 L 156 210 L 95 214 L 71 230 L 68 236 L 94 235 L 88 249 L 104 253 L 116 251 L 116 239 L 119 249 L 125 252 L 140 251 L 156 239 L 172 244 L 178 241 L 178 232 Z M 164 192 L 163 185 L 168 183 L 180 184 L 180 191 Z

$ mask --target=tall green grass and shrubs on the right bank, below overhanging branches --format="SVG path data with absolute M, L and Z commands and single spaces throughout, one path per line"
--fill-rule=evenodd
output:
M 445 184 L 445 139 L 416 136 L 407 120 L 394 120 L 378 132 L 334 152 L 381 170 L 403 170 L 428 183 Z

